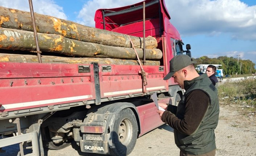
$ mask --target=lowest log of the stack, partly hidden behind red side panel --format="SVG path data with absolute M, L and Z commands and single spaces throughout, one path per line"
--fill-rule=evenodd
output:
M 0 62 L 17 62 L 17 63 L 38 63 L 37 55 L 21 55 L 1 53 Z M 6 51 L 5 51 L 6 52 Z M 115 64 L 115 65 L 139 65 L 137 60 L 111 59 L 111 58 L 68 58 L 59 56 L 42 55 L 42 63 L 69 63 L 69 64 Z M 146 61 L 146 66 L 160 66 L 160 61 Z

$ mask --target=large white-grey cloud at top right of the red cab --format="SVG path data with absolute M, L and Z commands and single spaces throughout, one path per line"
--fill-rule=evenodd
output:
M 183 36 L 232 34 L 234 39 L 256 40 L 256 5 L 239 0 L 169 0 L 171 22 Z

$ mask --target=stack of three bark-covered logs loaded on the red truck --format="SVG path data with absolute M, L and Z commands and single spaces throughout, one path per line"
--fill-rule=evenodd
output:
M 128 37 L 126 34 L 42 14 L 35 13 L 34 16 L 43 63 L 137 65 L 136 53 L 129 37 L 139 58 L 143 59 L 143 38 L 131 35 Z M 145 47 L 146 65 L 159 66 L 162 52 L 156 49 L 156 39 L 146 37 Z M 0 62 L 38 62 L 36 55 L 25 54 L 26 51 L 35 50 L 30 12 L 0 7 Z M 44 55 L 44 52 L 48 55 Z

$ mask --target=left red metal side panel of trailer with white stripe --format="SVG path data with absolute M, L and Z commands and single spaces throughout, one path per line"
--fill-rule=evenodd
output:
M 95 99 L 92 65 L 0 63 L 0 116 Z M 38 108 L 38 110 L 36 110 Z M 30 111 L 30 110 L 29 110 Z

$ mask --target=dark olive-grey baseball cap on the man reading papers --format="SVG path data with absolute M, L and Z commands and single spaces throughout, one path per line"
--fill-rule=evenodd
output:
M 193 61 L 188 55 L 174 56 L 174 58 L 170 60 L 170 72 L 164 77 L 164 80 L 170 79 L 175 72 L 195 63 L 197 63 L 197 61 Z

